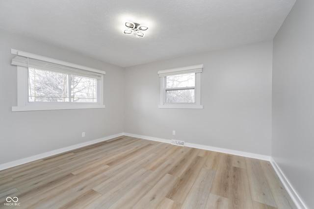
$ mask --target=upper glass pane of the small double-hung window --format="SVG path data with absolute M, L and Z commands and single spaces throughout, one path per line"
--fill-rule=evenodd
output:
M 195 86 L 195 73 L 166 76 L 166 88 L 182 88 Z

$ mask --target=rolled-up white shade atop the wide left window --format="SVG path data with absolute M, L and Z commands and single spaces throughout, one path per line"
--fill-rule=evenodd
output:
M 59 72 L 64 74 L 77 75 L 88 78 L 101 79 L 104 73 L 98 73 L 89 70 L 82 70 L 78 68 L 73 68 L 70 66 L 60 65 L 52 62 L 47 62 L 43 60 L 38 60 L 34 58 L 24 57 L 24 56 L 15 56 L 11 62 L 12 65 L 22 66 L 26 68 L 33 68 L 37 70 L 46 70 Z

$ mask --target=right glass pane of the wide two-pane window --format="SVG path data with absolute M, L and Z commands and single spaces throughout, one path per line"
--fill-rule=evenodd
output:
M 97 102 L 97 79 L 71 75 L 71 101 Z

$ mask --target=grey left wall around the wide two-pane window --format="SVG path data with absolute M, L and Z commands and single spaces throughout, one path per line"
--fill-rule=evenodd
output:
M 17 105 L 11 48 L 105 70 L 106 108 L 11 112 Z M 120 67 L 0 30 L 0 164 L 122 133 L 123 73 Z

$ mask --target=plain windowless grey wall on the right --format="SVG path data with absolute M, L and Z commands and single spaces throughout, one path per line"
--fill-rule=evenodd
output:
M 297 0 L 274 39 L 272 156 L 314 208 L 314 1 Z

